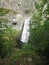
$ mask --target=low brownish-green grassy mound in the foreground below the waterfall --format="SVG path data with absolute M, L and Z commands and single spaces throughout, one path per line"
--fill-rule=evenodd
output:
M 36 53 L 32 50 L 19 50 L 19 49 L 15 49 L 11 56 L 9 56 L 8 58 L 4 58 L 3 59 L 3 64 L 2 65 L 15 65 L 15 64 L 20 64 L 20 63 L 24 63 L 25 60 L 24 58 L 32 58 L 33 56 L 36 56 Z

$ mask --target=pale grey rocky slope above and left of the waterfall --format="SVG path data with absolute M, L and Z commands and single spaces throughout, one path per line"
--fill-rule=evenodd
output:
M 17 22 L 14 27 L 21 29 L 23 20 L 34 10 L 34 1 L 38 2 L 38 0 L 0 0 L 0 7 L 11 10 L 6 18 L 10 22 Z

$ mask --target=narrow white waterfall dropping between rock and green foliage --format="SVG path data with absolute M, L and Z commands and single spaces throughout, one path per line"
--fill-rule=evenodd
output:
M 28 17 L 24 21 L 24 27 L 23 27 L 22 36 L 21 36 L 22 42 L 25 42 L 25 43 L 28 42 L 28 37 L 30 35 L 29 29 L 30 29 L 30 17 Z

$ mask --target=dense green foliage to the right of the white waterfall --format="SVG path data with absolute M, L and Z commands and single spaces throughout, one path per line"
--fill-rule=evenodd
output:
M 35 2 L 34 11 L 30 24 L 30 37 L 28 44 L 23 49 L 35 51 L 41 58 L 37 65 L 49 64 L 49 1 L 41 0 L 40 4 Z M 43 58 L 42 58 L 43 57 Z M 35 58 L 36 60 L 36 58 Z M 35 64 L 36 65 L 36 64 Z

